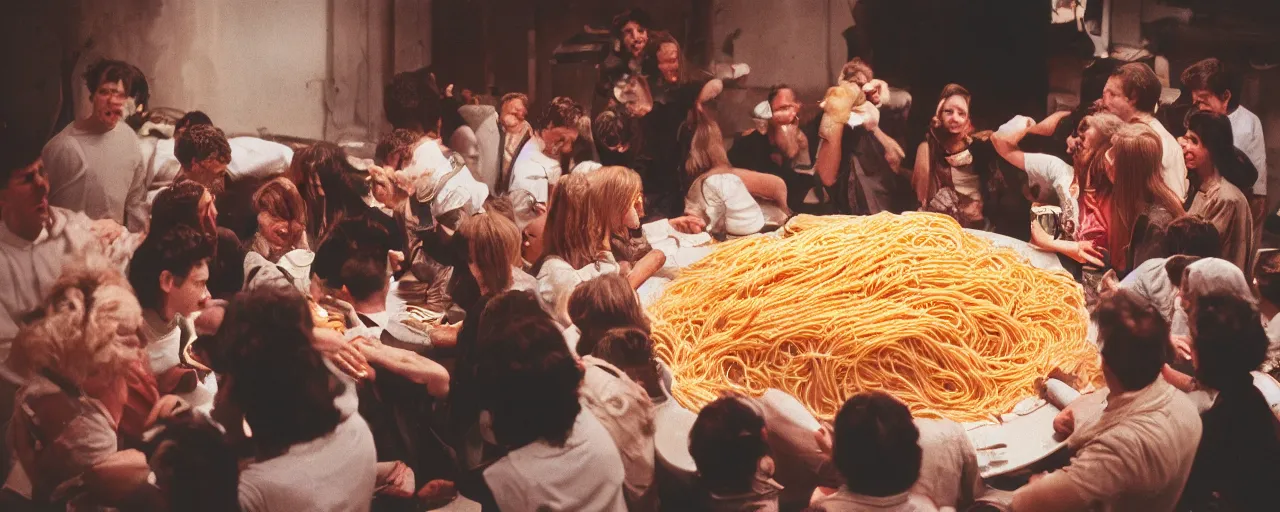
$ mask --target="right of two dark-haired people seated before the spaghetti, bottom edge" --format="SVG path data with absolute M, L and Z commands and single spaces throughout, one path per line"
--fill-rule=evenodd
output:
M 846 511 L 937 511 L 915 494 L 920 477 L 920 431 L 902 402 L 881 392 L 855 394 L 836 413 L 831 445 L 845 485 L 814 499 L 814 508 Z

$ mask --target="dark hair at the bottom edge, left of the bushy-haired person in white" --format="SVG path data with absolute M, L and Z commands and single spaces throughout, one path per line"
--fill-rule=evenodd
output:
M 186 416 L 164 420 L 146 445 L 169 509 L 239 509 L 239 461 L 216 426 Z M 163 475 L 163 476 L 161 476 Z

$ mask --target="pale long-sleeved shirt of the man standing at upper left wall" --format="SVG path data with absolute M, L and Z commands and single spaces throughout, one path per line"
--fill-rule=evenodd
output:
M 116 123 L 106 133 L 68 124 L 45 145 L 49 204 L 83 211 L 90 219 L 113 219 L 132 232 L 146 229 L 146 169 L 138 136 Z

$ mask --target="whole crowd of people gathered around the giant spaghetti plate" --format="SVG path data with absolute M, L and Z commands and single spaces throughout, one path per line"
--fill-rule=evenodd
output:
M 997 131 L 947 86 L 909 154 L 910 95 L 859 59 L 813 119 L 780 84 L 726 137 L 717 97 L 746 67 L 690 69 L 639 10 L 613 37 L 594 116 L 397 74 L 371 161 L 317 142 L 264 164 L 200 111 L 140 141 L 145 77 L 115 60 L 84 73 L 88 116 L 9 127 L 0 508 L 1275 507 L 1280 420 L 1254 381 L 1280 369 L 1280 252 L 1260 251 L 1261 123 L 1225 64 L 1181 74 L 1183 137 L 1130 63 Z M 636 289 L 675 255 L 643 227 L 911 210 L 1059 253 L 1084 287 L 1108 403 L 1059 415 L 1065 467 L 996 490 L 961 425 L 873 389 L 818 430 L 785 393 L 726 396 L 692 411 L 691 479 L 657 460 L 673 383 Z

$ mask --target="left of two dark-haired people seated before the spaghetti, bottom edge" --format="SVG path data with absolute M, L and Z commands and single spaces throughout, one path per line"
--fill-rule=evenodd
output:
M 689 431 L 689 454 L 705 493 L 704 509 L 778 508 L 782 485 L 773 480 L 764 416 L 749 398 L 728 396 L 698 412 Z

